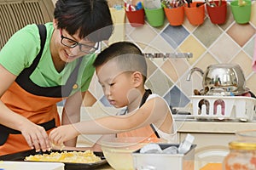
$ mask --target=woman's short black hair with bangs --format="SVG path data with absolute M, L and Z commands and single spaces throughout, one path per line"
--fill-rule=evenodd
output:
M 54 15 L 58 28 L 92 42 L 108 40 L 113 32 L 107 0 L 58 0 Z

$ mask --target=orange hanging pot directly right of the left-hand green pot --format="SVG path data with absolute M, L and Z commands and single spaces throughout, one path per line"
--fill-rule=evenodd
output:
M 184 21 L 184 7 L 164 8 L 166 18 L 171 26 L 181 26 Z

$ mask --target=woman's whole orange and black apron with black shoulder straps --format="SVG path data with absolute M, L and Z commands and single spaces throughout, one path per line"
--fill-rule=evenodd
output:
M 39 87 L 33 83 L 29 76 L 35 70 L 44 50 L 46 30 L 44 25 L 38 26 L 41 37 L 41 50 L 29 68 L 23 70 L 15 82 L 3 94 L 1 100 L 10 110 L 25 116 L 31 122 L 41 125 L 47 133 L 54 127 L 60 126 L 60 116 L 57 112 L 56 103 L 67 97 L 77 80 L 79 64 L 68 78 L 66 85 L 55 87 Z M 82 58 L 80 58 L 82 59 Z M 5 127 L 0 124 L 0 156 L 31 150 L 26 139 L 20 131 Z

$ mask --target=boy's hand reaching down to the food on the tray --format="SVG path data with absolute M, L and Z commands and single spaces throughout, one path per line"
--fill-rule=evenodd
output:
M 79 132 L 72 124 L 62 125 L 57 127 L 49 133 L 49 140 L 56 145 L 63 144 L 63 142 L 74 139 L 79 135 Z

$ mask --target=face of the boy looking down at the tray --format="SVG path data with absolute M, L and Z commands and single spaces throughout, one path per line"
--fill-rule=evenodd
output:
M 132 71 L 120 71 L 115 61 L 96 67 L 96 76 L 109 103 L 116 108 L 125 107 L 133 100 L 135 88 Z

